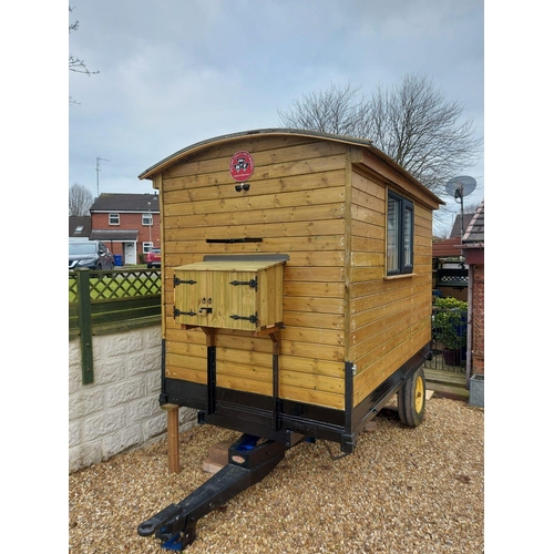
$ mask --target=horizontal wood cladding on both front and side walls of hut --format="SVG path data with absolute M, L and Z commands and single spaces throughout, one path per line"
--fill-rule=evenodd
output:
M 228 168 L 242 150 L 255 163 L 247 192 L 236 191 Z M 283 399 L 343 410 L 346 361 L 357 363 L 357 404 L 430 340 L 434 201 L 375 153 L 312 137 L 248 135 L 193 150 L 161 175 L 167 377 L 206 383 L 207 336 L 173 317 L 174 268 L 206 255 L 289 256 Z M 386 279 L 388 186 L 416 206 L 414 275 L 398 280 Z M 237 242 L 244 238 L 260 240 Z M 211 340 L 218 387 L 273 394 L 271 338 L 217 328 Z

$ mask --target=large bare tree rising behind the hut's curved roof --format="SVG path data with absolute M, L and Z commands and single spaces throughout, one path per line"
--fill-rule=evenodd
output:
M 464 107 L 450 102 L 427 76 L 408 74 L 398 88 L 379 86 L 368 100 L 349 83 L 293 101 L 278 111 L 288 127 L 368 138 L 437 195 L 453 175 L 472 167 L 482 138 Z

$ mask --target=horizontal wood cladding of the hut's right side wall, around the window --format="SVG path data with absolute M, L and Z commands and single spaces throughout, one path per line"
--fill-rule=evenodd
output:
M 431 335 L 432 214 L 416 199 L 413 275 L 386 279 L 384 177 L 352 175 L 346 358 L 357 365 L 355 406 L 422 348 Z M 410 197 L 414 188 L 408 193 L 403 194 Z

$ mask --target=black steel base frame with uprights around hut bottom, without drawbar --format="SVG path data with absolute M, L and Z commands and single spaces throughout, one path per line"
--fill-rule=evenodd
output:
M 165 351 L 165 342 L 163 341 Z M 177 404 L 198 410 L 198 423 L 212 424 L 290 443 L 299 434 L 340 443 L 349 454 L 356 447 L 356 434 L 400 389 L 430 356 L 430 345 L 422 348 L 397 369 L 384 382 L 353 406 L 356 365 L 345 362 L 345 410 L 307 404 L 278 397 L 278 355 L 274 349 L 273 396 L 256 394 L 217 387 L 217 349 L 207 347 L 207 384 L 165 377 L 165 353 L 162 356 L 162 393 L 160 404 Z

